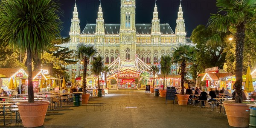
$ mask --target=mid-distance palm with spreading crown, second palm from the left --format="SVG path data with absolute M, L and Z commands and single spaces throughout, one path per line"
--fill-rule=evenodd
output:
M 76 46 L 76 58 L 83 62 L 84 71 L 83 71 L 83 94 L 87 92 L 86 90 L 86 74 L 87 74 L 87 65 L 90 64 L 90 57 L 93 57 L 96 54 L 97 50 L 91 45 L 86 45 L 84 43 L 79 43 Z

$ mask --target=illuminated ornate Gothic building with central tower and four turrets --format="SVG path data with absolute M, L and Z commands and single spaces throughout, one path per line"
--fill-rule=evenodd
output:
M 185 23 L 181 3 L 177 14 L 175 32 L 169 24 L 160 24 L 157 3 L 154 6 L 153 18 L 150 24 L 135 23 L 135 0 L 121 1 L 121 23 L 106 24 L 103 18 L 102 6 L 99 4 L 96 24 L 87 24 L 80 31 L 80 20 L 75 4 L 70 26 L 70 43 L 64 44 L 70 49 L 76 49 L 77 43 L 92 44 L 98 53 L 104 57 L 104 63 L 109 65 L 118 57 L 122 60 L 135 60 L 135 55 L 147 65 L 158 63 L 161 55 L 171 55 L 171 48 L 177 43 L 186 42 Z M 81 64 L 69 65 L 68 72 L 77 76 L 83 69 Z M 117 68 L 117 67 L 116 67 Z M 139 68 L 142 68 L 139 66 Z M 88 66 L 88 75 L 91 74 Z

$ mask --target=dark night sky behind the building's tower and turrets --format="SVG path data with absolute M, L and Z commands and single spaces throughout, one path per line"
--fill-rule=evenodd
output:
M 62 37 L 68 37 L 75 0 L 59 0 L 64 11 L 61 20 L 64 30 Z M 120 0 L 101 0 L 105 23 L 120 24 Z M 217 12 L 216 0 L 182 0 L 183 17 L 187 36 L 199 24 L 206 25 L 211 13 Z M 175 31 L 177 12 L 180 0 L 157 0 L 160 23 L 169 23 Z M 99 0 L 76 0 L 81 32 L 87 23 L 96 23 Z M 155 0 L 136 0 L 136 23 L 151 23 Z

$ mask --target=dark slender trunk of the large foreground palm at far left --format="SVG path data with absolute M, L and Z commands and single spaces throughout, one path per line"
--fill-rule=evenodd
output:
M 28 68 L 28 95 L 29 95 L 29 103 L 34 101 L 34 90 L 33 90 L 33 82 L 32 82 L 32 51 L 27 48 L 27 68 Z

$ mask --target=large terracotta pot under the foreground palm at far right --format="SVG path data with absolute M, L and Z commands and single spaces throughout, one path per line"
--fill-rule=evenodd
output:
M 247 128 L 249 127 L 250 112 L 245 103 L 223 102 L 230 126 Z

